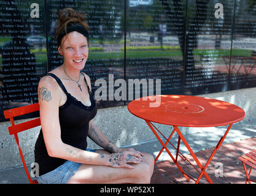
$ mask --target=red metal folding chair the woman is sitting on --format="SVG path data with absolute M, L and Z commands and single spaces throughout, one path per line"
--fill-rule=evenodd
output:
M 24 160 L 24 156 L 23 156 L 23 153 L 22 153 L 21 148 L 20 148 L 20 143 L 18 141 L 18 133 L 22 132 L 24 130 L 31 129 L 33 127 L 40 126 L 41 121 L 40 121 L 40 118 L 36 118 L 36 119 L 26 121 L 24 123 L 15 124 L 14 123 L 14 117 L 21 116 L 21 115 L 26 115 L 26 114 L 32 113 L 34 111 L 39 111 L 39 103 L 31 104 L 31 105 L 25 105 L 25 106 L 22 106 L 22 107 L 12 108 L 10 110 L 5 110 L 4 111 L 5 118 L 10 119 L 11 126 L 8 127 L 9 134 L 14 135 L 14 137 L 15 137 L 15 141 L 18 145 L 18 151 L 20 153 L 20 157 L 21 157 L 23 167 L 26 171 L 26 175 L 28 176 L 29 183 L 31 183 L 31 184 L 36 184 L 37 181 L 32 180 L 30 175 L 29 175 L 28 168 L 26 167 L 26 162 Z

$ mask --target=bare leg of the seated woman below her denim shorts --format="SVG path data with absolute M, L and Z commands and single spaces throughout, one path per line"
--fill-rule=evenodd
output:
M 97 153 L 107 153 L 104 150 L 98 150 Z M 143 153 L 144 162 L 134 164 L 135 168 L 114 168 L 103 165 L 82 164 L 76 174 L 72 176 L 68 183 L 150 183 L 153 174 L 154 159 L 151 154 Z

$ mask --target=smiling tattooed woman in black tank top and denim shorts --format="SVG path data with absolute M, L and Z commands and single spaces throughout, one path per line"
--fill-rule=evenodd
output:
M 39 183 L 150 183 L 153 156 L 111 143 L 93 122 L 96 104 L 88 75 L 88 25 L 73 9 L 58 20 L 64 61 L 38 85 L 42 130 L 35 145 Z M 87 149 L 87 136 L 103 149 Z

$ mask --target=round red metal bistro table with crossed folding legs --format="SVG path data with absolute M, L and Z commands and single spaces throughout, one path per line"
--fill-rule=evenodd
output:
M 150 103 L 152 104 L 156 102 L 156 100 L 158 100 L 158 107 L 152 107 Z M 163 146 L 163 148 L 161 148 L 160 153 L 155 158 L 155 162 L 157 161 L 160 154 L 163 152 L 163 149 L 165 149 L 166 152 L 171 157 L 171 159 L 177 165 L 179 170 L 185 176 L 187 181 L 189 181 L 189 178 L 193 178 L 187 175 L 177 162 L 177 156 L 180 156 L 183 160 L 188 161 L 188 159 L 179 152 L 180 140 L 182 140 L 182 142 L 190 152 L 191 156 L 195 160 L 196 164 L 200 168 L 200 170 L 198 170 L 194 165 L 192 165 L 188 161 L 200 173 L 197 179 L 193 179 L 196 184 L 199 183 L 203 175 L 209 181 L 209 183 L 212 183 L 211 178 L 206 173 L 206 168 L 211 162 L 211 159 L 216 153 L 217 149 L 219 149 L 220 146 L 222 145 L 222 142 L 227 136 L 228 131 L 230 130 L 233 123 L 241 121 L 245 116 L 245 112 L 244 110 L 242 110 L 242 108 L 239 108 L 238 106 L 230 104 L 228 102 L 224 102 L 217 99 L 209 99 L 205 97 L 180 95 L 157 95 L 141 97 L 130 102 L 128 104 L 128 110 L 134 116 L 137 116 L 138 118 L 142 118 L 145 120 L 147 125 L 152 130 L 153 134 L 155 134 L 155 136 Z M 153 123 L 167 124 L 173 126 L 173 132 L 171 132 L 171 135 L 169 135 L 169 137 L 166 138 L 165 135 L 163 135 L 160 132 L 160 130 L 158 130 L 157 127 L 153 125 Z M 182 132 L 180 132 L 178 128 L 217 127 L 227 125 L 228 129 L 226 130 L 225 134 L 220 138 L 219 142 L 215 146 L 214 151 L 212 152 L 204 167 L 203 165 L 201 165 L 200 161 L 195 156 L 195 153 L 193 153 L 192 149 L 190 148 L 184 136 L 182 135 Z M 163 142 L 163 140 L 161 140 L 157 132 L 159 132 L 166 139 L 165 143 Z M 171 137 L 173 137 L 174 132 L 177 132 L 177 134 L 179 135 L 177 148 L 169 141 L 171 140 Z M 174 157 L 173 154 L 170 153 L 169 149 L 166 148 L 166 145 L 168 143 L 170 143 L 177 150 L 176 157 Z

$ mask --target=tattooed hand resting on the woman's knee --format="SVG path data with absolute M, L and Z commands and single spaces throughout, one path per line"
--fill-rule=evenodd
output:
M 136 152 L 122 151 L 109 154 L 109 164 L 111 167 L 134 168 L 131 164 L 140 164 L 143 160 Z

